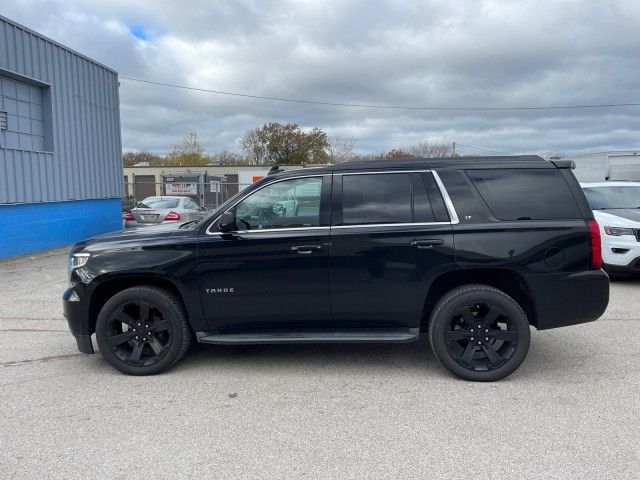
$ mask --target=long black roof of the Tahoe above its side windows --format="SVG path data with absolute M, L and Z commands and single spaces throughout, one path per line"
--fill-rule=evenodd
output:
M 358 170 L 408 170 L 446 168 L 555 168 L 563 162 L 548 162 L 538 155 L 514 155 L 497 157 L 411 158 L 406 160 L 366 160 L 305 168 L 313 173 L 331 173 Z M 564 166 L 564 165 L 563 165 Z M 300 170 L 278 170 L 275 175 L 300 174 Z

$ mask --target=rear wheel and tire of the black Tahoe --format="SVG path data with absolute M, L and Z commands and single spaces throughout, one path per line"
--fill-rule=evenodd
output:
M 501 290 L 481 284 L 446 293 L 431 313 L 428 335 L 445 368 L 477 382 L 513 373 L 527 356 L 531 338 L 520 305 Z

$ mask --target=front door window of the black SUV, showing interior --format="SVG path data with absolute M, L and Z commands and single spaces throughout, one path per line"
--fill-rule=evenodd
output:
M 236 227 L 239 230 L 317 227 L 321 189 L 320 177 L 272 183 L 236 205 Z

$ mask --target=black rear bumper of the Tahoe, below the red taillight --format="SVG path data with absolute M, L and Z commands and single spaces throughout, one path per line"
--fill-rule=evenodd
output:
M 528 282 L 535 297 L 538 330 L 597 320 L 609 304 L 604 270 L 534 275 Z

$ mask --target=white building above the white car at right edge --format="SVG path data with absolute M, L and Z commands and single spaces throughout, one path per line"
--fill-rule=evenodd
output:
M 573 173 L 580 182 L 640 181 L 640 150 L 585 153 L 563 160 L 575 162 Z

